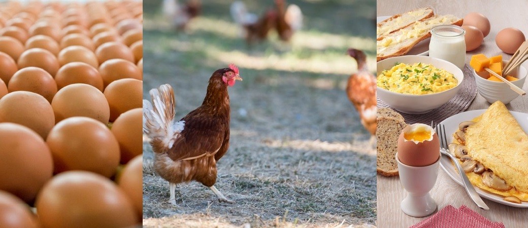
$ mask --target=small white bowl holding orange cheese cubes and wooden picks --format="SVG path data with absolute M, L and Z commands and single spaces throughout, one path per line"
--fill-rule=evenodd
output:
M 505 65 L 507 61 L 503 60 L 502 63 Z M 514 76 L 518 78 L 518 80 L 513 81 L 512 83 L 517 87 L 522 88 L 526 81 L 526 73 L 526 68 L 524 66 L 515 68 L 515 70 L 510 73 L 510 76 Z M 475 81 L 477 82 L 477 91 L 489 103 L 493 104 L 493 102 L 501 101 L 504 104 L 508 104 L 519 96 L 518 93 L 511 90 L 508 84 L 504 82 L 489 81 L 479 74 L 489 75 L 489 73 L 485 72 L 477 74 L 477 72 L 473 71 Z

